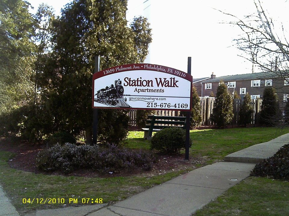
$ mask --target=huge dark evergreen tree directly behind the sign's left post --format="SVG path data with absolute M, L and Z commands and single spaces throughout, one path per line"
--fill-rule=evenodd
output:
M 151 42 L 146 19 L 135 18 L 128 27 L 126 0 L 75 0 L 53 22 L 53 52 L 39 76 L 42 96 L 54 130 L 78 135 L 85 131 L 92 142 L 92 74 L 95 56 L 101 69 L 143 62 Z M 126 110 L 99 110 L 98 138 L 119 143 L 126 137 Z

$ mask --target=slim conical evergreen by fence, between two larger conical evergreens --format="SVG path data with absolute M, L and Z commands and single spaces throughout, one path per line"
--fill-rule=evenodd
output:
M 246 93 L 239 112 L 239 125 L 244 125 L 244 127 L 246 127 L 246 125 L 250 124 L 252 121 L 253 107 L 251 103 L 251 97 L 249 93 Z

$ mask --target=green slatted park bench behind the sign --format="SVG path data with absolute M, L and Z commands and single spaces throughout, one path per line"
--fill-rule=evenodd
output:
M 186 117 L 148 115 L 147 125 L 145 125 L 145 128 L 141 129 L 144 131 L 144 139 L 150 140 L 153 132 L 160 131 L 161 129 L 168 127 L 180 127 L 185 129 Z

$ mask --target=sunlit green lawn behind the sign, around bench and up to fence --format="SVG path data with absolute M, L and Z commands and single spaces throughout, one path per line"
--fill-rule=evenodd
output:
M 207 164 L 222 160 L 226 155 L 289 133 L 289 128 L 230 128 L 191 130 L 193 145 L 190 157 L 207 157 Z M 125 147 L 132 149 L 149 149 L 149 141 L 144 140 L 144 132 L 130 131 Z M 182 151 L 184 153 L 184 151 Z

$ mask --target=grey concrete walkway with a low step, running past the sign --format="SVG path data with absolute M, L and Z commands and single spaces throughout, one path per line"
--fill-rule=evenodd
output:
M 247 178 L 257 162 L 274 155 L 288 141 L 289 134 L 285 134 L 251 146 L 226 156 L 227 161 L 185 173 L 113 205 L 41 210 L 25 216 L 191 216 L 228 188 Z M 0 190 L 1 200 L 2 194 Z M 7 208 L 7 211 L 0 208 L 0 216 L 19 215 L 13 208 Z

